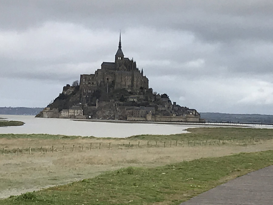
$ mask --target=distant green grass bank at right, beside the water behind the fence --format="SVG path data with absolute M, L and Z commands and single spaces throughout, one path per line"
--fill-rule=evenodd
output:
M 145 139 L 151 141 L 202 141 L 202 140 L 247 140 L 247 139 L 273 139 L 272 129 L 258 128 L 188 128 L 190 133 L 176 135 L 135 135 L 130 139 Z

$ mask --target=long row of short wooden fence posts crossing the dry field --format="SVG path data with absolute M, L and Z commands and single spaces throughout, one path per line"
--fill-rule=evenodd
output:
M 187 140 L 187 141 L 147 141 L 147 143 L 134 141 L 128 143 L 111 143 L 111 142 L 92 142 L 82 145 L 46 145 L 46 146 L 30 146 L 25 148 L 8 148 L 3 147 L 0 154 L 33 154 L 47 152 L 83 152 L 101 149 L 143 149 L 143 148 L 174 148 L 174 147 L 194 147 L 194 146 L 211 146 L 211 145 L 247 145 L 248 143 L 259 143 L 261 141 L 271 140 L 271 138 L 248 138 L 245 140 L 233 139 L 215 139 L 215 140 Z

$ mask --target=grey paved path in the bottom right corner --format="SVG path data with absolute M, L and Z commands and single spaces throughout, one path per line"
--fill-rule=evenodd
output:
M 273 166 L 233 179 L 180 205 L 272 205 Z

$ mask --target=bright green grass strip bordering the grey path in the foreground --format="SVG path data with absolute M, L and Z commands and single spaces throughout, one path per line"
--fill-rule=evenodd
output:
M 273 151 L 128 167 L 92 179 L 25 193 L 0 204 L 179 204 L 229 179 L 273 165 Z M 130 201 L 130 202 L 129 202 Z

